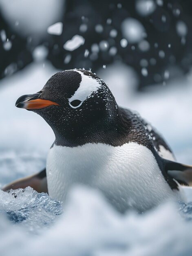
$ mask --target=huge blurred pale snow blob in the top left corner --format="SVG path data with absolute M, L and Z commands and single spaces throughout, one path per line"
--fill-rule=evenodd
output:
M 0 0 L 1 13 L 13 31 L 23 36 L 46 36 L 47 27 L 60 19 L 63 1 L 58 0 Z

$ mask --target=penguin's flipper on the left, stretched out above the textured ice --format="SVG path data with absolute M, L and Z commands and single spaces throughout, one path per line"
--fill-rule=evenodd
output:
M 4 186 L 2 190 L 7 191 L 9 189 L 24 189 L 27 186 L 31 186 L 38 193 L 48 193 L 46 169 L 42 170 L 40 173 L 35 173 L 34 175 L 15 180 L 9 183 L 8 185 Z

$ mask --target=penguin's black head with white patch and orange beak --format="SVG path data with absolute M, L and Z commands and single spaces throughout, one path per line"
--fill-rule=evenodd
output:
M 15 106 L 42 116 L 56 138 L 96 135 L 117 117 L 117 103 L 108 86 L 86 70 L 56 73 L 41 91 L 21 96 Z

